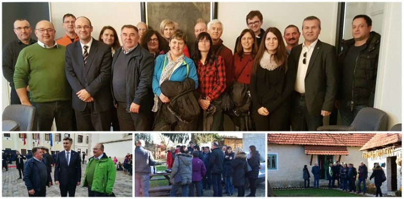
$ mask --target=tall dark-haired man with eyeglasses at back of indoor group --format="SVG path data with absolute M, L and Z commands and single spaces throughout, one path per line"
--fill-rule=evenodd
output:
M 254 31 L 255 37 L 257 38 L 257 44 L 260 46 L 262 36 L 265 33 L 265 30 L 261 28 L 263 23 L 262 14 L 259 10 L 250 11 L 245 17 L 245 21 L 247 24 L 247 28 Z M 236 40 L 236 45 L 234 46 L 234 52 L 236 52 L 237 44 L 239 37 Z

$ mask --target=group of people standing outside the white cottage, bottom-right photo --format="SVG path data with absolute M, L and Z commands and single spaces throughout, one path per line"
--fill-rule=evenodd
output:
M 320 179 L 320 167 L 317 163 L 314 163 L 314 166 L 311 168 L 311 173 L 313 174 L 314 183 L 313 187 L 319 187 L 319 179 Z M 327 161 L 326 166 L 326 175 L 329 180 L 328 188 L 337 188 L 342 189 L 342 191 L 354 192 L 357 194 L 362 193 L 365 195 L 366 192 L 366 179 L 368 178 L 368 168 L 366 164 L 361 161 L 360 165 L 356 169 L 354 164 L 352 163 L 340 163 L 339 161 L 332 162 L 332 159 Z M 386 180 L 383 168 L 380 167 L 379 163 L 376 163 L 373 168 L 373 173 L 370 176 L 370 180 L 375 178 L 375 186 L 376 186 L 376 196 L 381 197 L 381 183 Z M 308 188 L 310 185 L 310 174 L 307 165 L 303 168 L 303 179 L 305 180 L 304 187 Z M 356 184 L 357 179 L 357 184 Z M 337 186 L 335 186 L 335 180 L 337 181 Z M 306 184 L 307 182 L 307 184 Z M 362 186 L 361 186 L 362 184 Z M 358 190 L 356 191 L 356 185 Z

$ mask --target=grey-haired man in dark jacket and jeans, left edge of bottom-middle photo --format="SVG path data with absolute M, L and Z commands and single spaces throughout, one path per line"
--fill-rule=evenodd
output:
M 135 148 L 135 197 L 140 197 L 140 189 L 142 188 L 143 197 L 149 196 L 149 173 L 150 166 L 154 166 L 156 162 L 150 151 L 144 149 L 145 142 L 139 139 Z

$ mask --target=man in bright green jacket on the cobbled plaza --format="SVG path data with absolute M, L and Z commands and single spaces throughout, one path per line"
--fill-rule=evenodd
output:
M 94 145 L 93 154 L 86 166 L 83 187 L 88 188 L 89 197 L 115 197 L 112 192 L 117 172 L 114 161 L 104 153 L 101 143 Z

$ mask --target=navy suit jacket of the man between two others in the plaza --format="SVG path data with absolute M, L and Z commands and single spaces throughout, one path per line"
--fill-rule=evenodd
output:
M 71 150 L 70 155 L 69 166 L 65 151 L 56 155 L 55 181 L 59 181 L 61 185 L 74 185 L 81 181 L 80 154 Z

